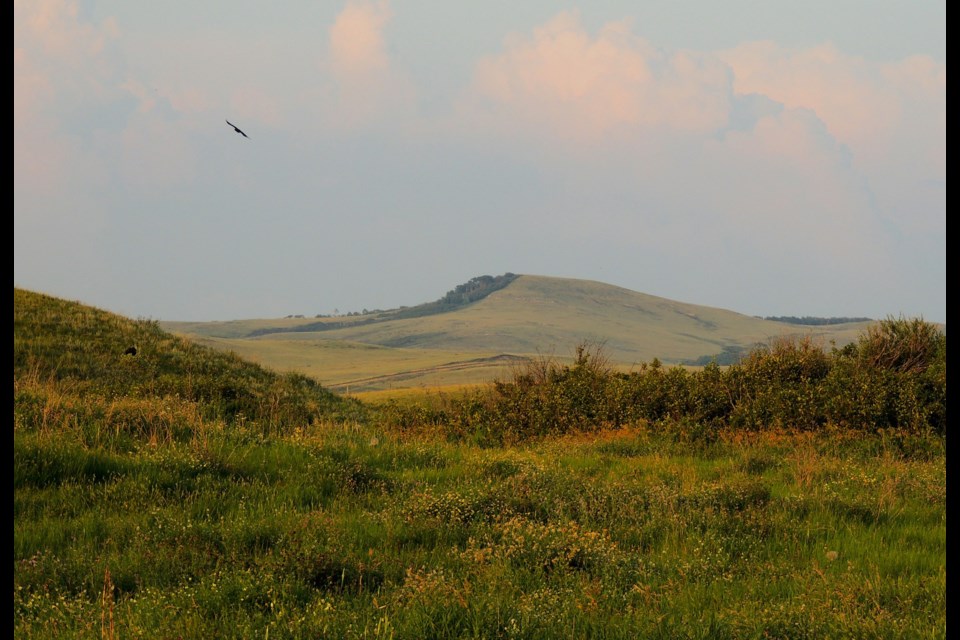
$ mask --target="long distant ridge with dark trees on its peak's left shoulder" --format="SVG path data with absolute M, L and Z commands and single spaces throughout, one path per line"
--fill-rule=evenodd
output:
M 493 354 L 572 354 L 601 344 L 617 363 L 729 363 L 744 350 L 785 336 L 842 346 L 867 321 L 797 325 L 652 296 L 592 280 L 537 275 L 480 276 L 416 307 L 319 319 L 161 323 L 207 339 L 336 341 L 393 349 Z M 265 343 L 264 343 L 265 344 Z M 264 347 L 265 348 L 265 347 Z

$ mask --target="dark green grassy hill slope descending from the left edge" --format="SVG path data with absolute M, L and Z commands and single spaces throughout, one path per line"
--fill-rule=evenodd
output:
M 359 412 L 355 402 L 306 376 L 282 375 L 235 354 L 209 349 L 163 330 L 156 322 L 134 321 L 17 288 L 13 291 L 13 376 L 14 401 L 23 400 L 23 419 L 36 406 L 25 398 L 38 388 L 83 398 L 90 406 L 132 403 L 138 415 L 148 413 L 144 407 L 167 411 L 175 406 L 201 420 L 243 416 L 265 428 Z M 181 418 L 170 420 L 175 423 Z

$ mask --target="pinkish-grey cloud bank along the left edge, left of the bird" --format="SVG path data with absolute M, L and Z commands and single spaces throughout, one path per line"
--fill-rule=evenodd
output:
M 112 19 L 66 0 L 16 2 L 14 19 L 15 277 L 93 295 L 122 278 L 117 221 L 192 179 L 189 134 L 127 79 Z

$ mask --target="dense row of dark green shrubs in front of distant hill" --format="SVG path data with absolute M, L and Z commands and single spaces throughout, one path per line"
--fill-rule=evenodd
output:
M 512 379 L 427 408 L 388 404 L 400 428 L 431 428 L 484 443 L 638 422 L 817 430 L 946 430 L 946 335 L 919 319 L 888 318 L 841 349 L 782 339 L 739 362 L 701 369 L 644 363 L 616 371 L 581 345 L 572 365 L 541 358 Z

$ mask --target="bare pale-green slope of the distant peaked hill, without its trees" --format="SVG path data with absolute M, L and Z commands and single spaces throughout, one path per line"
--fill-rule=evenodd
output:
M 324 332 L 385 347 L 568 355 L 603 343 L 618 362 L 682 362 L 809 330 L 598 282 L 520 276 L 468 307 Z M 314 334 L 313 337 L 319 337 Z

